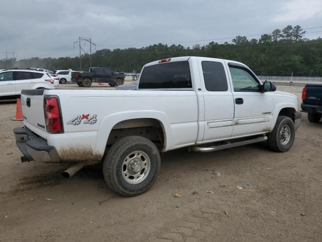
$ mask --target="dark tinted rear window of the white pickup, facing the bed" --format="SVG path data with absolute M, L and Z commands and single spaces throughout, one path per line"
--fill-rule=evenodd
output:
M 192 88 L 189 62 L 169 62 L 144 67 L 139 89 L 157 88 Z

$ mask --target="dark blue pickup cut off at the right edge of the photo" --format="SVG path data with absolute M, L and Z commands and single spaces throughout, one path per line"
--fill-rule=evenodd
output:
M 307 112 L 309 122 L 318 123 L 322 117 L 322 85 L 305 85 L 301 111 Z

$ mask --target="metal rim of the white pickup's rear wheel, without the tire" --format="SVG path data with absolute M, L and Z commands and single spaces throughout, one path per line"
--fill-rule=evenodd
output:
M 141 183 L 149 174 L 151 162 L 149 156 L 140 150 L 129 153 L 122 163 L 122 176 L 129 184 Z

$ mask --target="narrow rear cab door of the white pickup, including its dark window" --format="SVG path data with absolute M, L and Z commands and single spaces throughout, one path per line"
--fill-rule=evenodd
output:
M 233 130 L 234 104 L 225 63 L 213 58 L 202 58 L 198 62 L 205 106 L 202 142 L 229 138 Z

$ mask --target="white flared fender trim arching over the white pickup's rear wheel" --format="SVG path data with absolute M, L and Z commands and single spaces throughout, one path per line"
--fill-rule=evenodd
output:
M 167 150 L 167 147 L 169 147 L 169 137 L 170 137 L 170 122 L 168 119 L 168 116 L 164 112 L 160 111 L 154 111 L 154 110 L 132 110 L 132 111 L 123 111 L 123 112 L 117 112 L 112 113 L 109 115 L 106 115 L 102 118 L 96 144 L 95 144 L 95 152 L 98 152 L 100 154 L 103 154 L 105 151 L 105 147 L 107 144 L 108 137 L 111 133 L 111 130 L 113 127 L 128 119 L 136 119 L 136 118 L 154 118 L 157 119 L 163 126 L 163 129 L 165 131 L 165 148 L 164 151 Z

